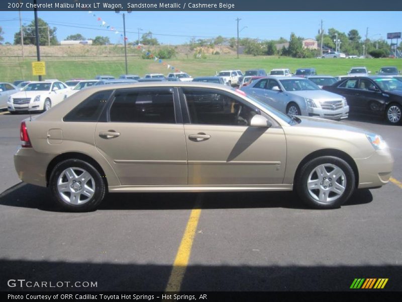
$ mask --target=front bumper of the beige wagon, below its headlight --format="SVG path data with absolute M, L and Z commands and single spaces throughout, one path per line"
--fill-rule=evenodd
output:
M 380 187 L 388 183 L 394 163 L 389 148 L 377 150 L 366 159 L 354 161 L 359 171 L 359 189 Z

